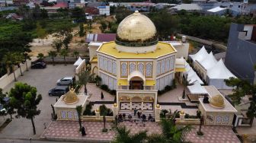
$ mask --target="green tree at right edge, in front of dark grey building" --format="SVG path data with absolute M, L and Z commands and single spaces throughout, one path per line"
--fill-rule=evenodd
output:
M 256 117 L 256 84 L 250 84 L 248 81 L 233 77 L 225 80 L 225 82 L 229 87 L 234 87 L 233 94 L 229 97 L 236 105 L 241 103 L 242 97 L 249 97 L 251 102 L 246 115 L 251 119 L 250 123 L 252 124 L 254 117 Z

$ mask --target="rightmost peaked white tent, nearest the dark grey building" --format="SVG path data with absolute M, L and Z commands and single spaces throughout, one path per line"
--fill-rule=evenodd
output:
M 224 81 L 231 77 L 236 78 L 235 75 L 226 68 L 222 59 L 220 59 L 216 65 L 207 70 L 206 81 L 209 85 L 214 85 L 217 89 L 232 89 L 232 87 L 227 86 Z

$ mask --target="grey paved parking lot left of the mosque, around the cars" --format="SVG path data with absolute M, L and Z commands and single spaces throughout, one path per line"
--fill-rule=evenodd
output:
M 14 119 L 5 129 L 0 132 L 0 138 L 40 138 L 44 131 L 43 123 L 46 126 L 51 122 L 52 109 L 50 104 L 56 102 L 56 97 L 49 97 L 48 91 L 56 86 L 56 81 L 64 76 L 74 75 L 73 65 L 47 65 L 45 69 L 30 69 L 24 72 L 24 76 L 18 78 L 18 81 L 37 87 L 37 93 L 42 94 L 39 109 L 41 113 L 35 118 L 37 135 L 33 135 L 31 121 L 29 119 Z M 14 87 L 14 82 L 5 87 L 4 91 L 9 91 Z M 0 141 L 1 142 L 1 141 Z

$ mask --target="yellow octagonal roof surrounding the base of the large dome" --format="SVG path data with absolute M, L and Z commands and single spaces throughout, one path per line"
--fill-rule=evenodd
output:
M 146 52 L 146 53 L 133 53 L 133 52 L 118 52 L 116 49 L 117 44 L 114 41 L 109 43 L 103 43 L 98 52 L 107 54 L 108 56 L 113 56 L 115 58 L 150 58 L 157 59 L 158 57 L 168 55 L 170 53 L 177 52 L 173 46 L 169 43 L 158 42 L 155 52 Z

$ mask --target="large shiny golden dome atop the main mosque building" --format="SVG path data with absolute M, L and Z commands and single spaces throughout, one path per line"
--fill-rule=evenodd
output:
M 158 42 L 153 22 L 135 11 L 120 22 L 116 43 L 123 46 L 150 46 Z

